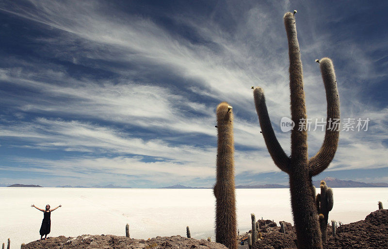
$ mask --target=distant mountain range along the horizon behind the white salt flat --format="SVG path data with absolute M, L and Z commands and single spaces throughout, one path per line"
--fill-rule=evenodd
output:
M 373 187 L 388 187 L 388 183 L 362 183 L 362 182 L 355 182 L 355 181 L 344 181 L 339 180 L 334 177 L 326 177 L 323 179 L 323 181 L 326 182 L 327 186 L 332 188 L 373 188 Z M 321 181 L 314 181 L 313 185 L 315 187 L 319 188 Z M 9 183 L 0 183 L 1 186 L 8 186 Z M 24 185 L 24 184 L 13 184 L 9 185 L 8 187 L 42 187 L 39 185 Z M 122 187 L 122 186 L 116 186 L 113 184 L 100 186 L 100 185 L 94 185 L 92 187 L 85 187 L 85 186 L 57 186 L 57 187 L 63 187 L 63 188 L 131 188 L 131 187 Z M 168 188 L 168 189 L 210 189 L 211 187 L 188 187 L 180 184 L 176 184 L 173 186 L 168 187 L 161 187 L 161 188 Z M 264 184 L 264 185 L 237 185 L 236 188 L 289 188 L 289 185 L 281 185 L 281 184 Z

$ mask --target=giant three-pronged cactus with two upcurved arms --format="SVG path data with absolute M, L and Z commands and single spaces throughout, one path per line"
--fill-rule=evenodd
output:
M 294 12 L 295 13 L 295 12 Z M 289 57 L 290 57 L 290 90 L 291 119 L 296 124 L 291 132 L 291 156 L 288 157 L 276 139 L 268 116 L 264 92 L 260 87 L 254 90 L 256 111 L 259 116 L 261 132 L 267 149 L 281 170 L 289 174 L 291 207 L 296 228 L 298 248 L 322 249 L 322 238 L 318 223 L 318 214 L 314 203 L 311 178 L 321 173 L 334 158 L 337 150 L 339 131 L 326 130 L 323 145 L 318 153 L 308 159 L 307 129 L 298 129 L 299 121 L 306 120 L 305 92 L 303 90 L 303 71 L 300 59 L 299 43 L 296 35 L 295 17 L 292 13 L 284 15 Z M 334 119 L 339 119 L 339 97 L 334 67 L 330 59 L 320 61 L 321 73 L 327 100 L 326 126 Z

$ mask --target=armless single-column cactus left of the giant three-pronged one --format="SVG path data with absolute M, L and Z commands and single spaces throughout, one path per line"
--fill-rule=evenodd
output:
M 232 107 L 222 102 L 217 106 L 217 180 L 214 185 L 216 198 L 216 242 L 229 249 L 237 249 L 236 197 L 234 184 L 234 144 Z

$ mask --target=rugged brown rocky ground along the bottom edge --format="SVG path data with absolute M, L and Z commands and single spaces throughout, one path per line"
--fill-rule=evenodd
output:
M 281 221 L 283 222 L 283 221 Z M 261 240 L 253 249 L 296 249 L 296 234 L 291 223 L 285 222 L 286 233 L 273 220 L 259 220 Z M 280 222 L 279 222 L 280 224 Z M 328 226 L 328 241 L 324 249 L 388 249 L 388 210 L 380 209 L 365 220 L 341 225 L 336 236 Z M 240 238 L 244 237 L 244 234 Z M 148 240 L 114 235 L 81 235 L 50 237 L 46 241 L 33 241 L 21 249 L 226 249 L 224 245 L 207 240 L 196 240 L 179 235 L 156 237 Z

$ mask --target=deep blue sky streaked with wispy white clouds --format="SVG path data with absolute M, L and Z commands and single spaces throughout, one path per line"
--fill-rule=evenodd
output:
M 290 154 L 295 14 L 307 117 L 326 118 L 315 59 L 333 60 L 343 128 L 326 176 L 388 182 L 388 2 L 5 0 L 0 3 L 0 183 L 147 188 L 215 183 L 215 108 L 233 106 L 237 185 L 287 184 L 260 132 L 265 91 Z M 364 122 L 365 124 L 366 122 Z M 308 153 L 324 132 L 308 133 Z

